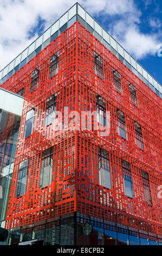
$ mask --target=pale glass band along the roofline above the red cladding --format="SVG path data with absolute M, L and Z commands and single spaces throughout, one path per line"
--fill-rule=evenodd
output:
M 96 39 L 105 45 L 117 58 L 137 75 L 154 93 L 162 99 L 162 87 L 142 66 L 110 35 L 100 24 L 90 16 L 80 4 L 76 3 L 51 27 L 39 36 L 28 48 L 20 53 L 12 62 L 0 71 L 0 84 L 7 81 L 16 71 L 21 69 L 33 57 L 41 52 L 51 41 L 57 38 L 67 28 L 79 21 Z

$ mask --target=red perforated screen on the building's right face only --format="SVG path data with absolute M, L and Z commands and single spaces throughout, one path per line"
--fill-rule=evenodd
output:
M 106 138 L 99 131 L 77 132 L 77 211 L 161 234 L 161 101 L 81 25 L 78 36 L 77 110 L 95 111 L 100 95 L 111 114 L 111 130 Z M 94 52 L 103 59 L 104 79 L 95 74 Z M 113 70 L 120 74 L 122 93 L 113 86 Z M 131 101 L 129 83 L 135 87 L 138 106 Z M 118 133 L 117 109 L 125 115 L 127 139 Z M 144 150 L 138 147 L 134 121 L 142 127 Z M 99 185 L 99 148 L 109 155 L 111 189 Z M 121 159 L 131 164 L 134 198 L 125 196 Z M 153 205 L 145 202 L 141 170 L 149 174 Z

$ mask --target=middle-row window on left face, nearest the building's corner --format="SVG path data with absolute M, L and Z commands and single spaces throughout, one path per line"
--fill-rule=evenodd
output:
M 56 94 L 53 95 L 53 96 L 50 96 L 47 99 L 44 126 L 47 126 L 47 125 L 53 123 L 53 121 L 55 119 L 55 116 L 56 116 L 56 99 L 57 99 Z

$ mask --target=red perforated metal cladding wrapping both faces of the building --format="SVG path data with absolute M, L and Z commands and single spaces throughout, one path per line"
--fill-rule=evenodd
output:
M 59 69 L 50 78 L 53 54 L 59 54 Z M 39 80 L 31 92 L 34 70 L 39 70 Z M 76 22 L 2 87 L 14 93 L 25 87 L 6 228 L 78 211 L 129 225 L 132 230 L 161 234 L 161 100 L 112 52 Z M 63 116 L 62 131 L 54 131 L 52 124 L 44 126 L 47 99 L 54 94 L 56 111 Z M 106 137 L 94 130 L 99 123 L 93 118 L 78 121 L 82 111 L 96 111 L 99 100 L 111 115 Z M 64 107 L 77 111 L 79 117 L 69 117 Z M 24 138 L 26 114 L 33 108 L 33 133 Z M 76 123 L 77 131 L 72 129 Z M 51 185 L 39 188 L 42 151 L 51 146 Z M 102 150 L 109 162 L 109 188 L 100 178 Z M 18 169 L 26 159 L 26 192 L 15 197 Z M 124 167 L 125 162 L 130 169 Z M 125 193 L 124 172 L 132 182 L 132 197 Z

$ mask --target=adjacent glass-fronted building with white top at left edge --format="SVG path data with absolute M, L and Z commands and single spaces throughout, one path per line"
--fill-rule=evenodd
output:
M 0 100 L 0 227 L 4 228 L 23 99 L 0 88 Z M 3 100 L 5 103 L 3 103 Z M 12 104 L 16 105 L 16 100 L 17 109 L 14 109 Z M 11 109 L 14 113 L 10 112 Z M 7 241 L 2 242 L 2 245 L 5 243 L 7 243 Z

